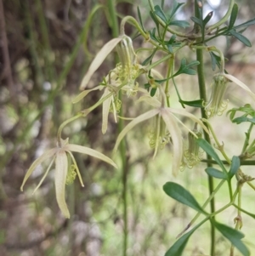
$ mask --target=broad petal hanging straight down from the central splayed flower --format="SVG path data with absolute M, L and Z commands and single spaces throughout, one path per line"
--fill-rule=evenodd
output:
M 173 117 L 173 114 L 167 111 L 166 109 L 161 110 L 161 116 L 166 123 L 167 129 L 171 134 L 171 139 L 173 141 L 173 164 L 172 171 L 173 175 L 178 173 L 180 164 L 183 158 L 183 140 L 178 124 Z

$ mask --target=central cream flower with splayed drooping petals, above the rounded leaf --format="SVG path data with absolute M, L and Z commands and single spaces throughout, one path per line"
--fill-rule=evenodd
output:
M 173 109 L 164 105 L 165 102 L 165 95 L 161 92 L 162 103 L 160 100 L 156 100 L 156 98 L 152 98 L 148 95 L 143 97 L 143 100 L 148 102 L 150 105 L 154 106 L 154 109 L 145 112 L 144 114 L 140 115 L 139 117 L 135 117 L 133 121 L 129 122 L 125 128 L 123 128 L 122 132 L 119 134 L 118 138 L 116 139 L 116 145 L 113 151 L 116 151 L 118 145 L 122 141 L 122 139 L 126 136 L 126 134 L 134 128 L 140 122 L 144 122 L 150 118 L 156 119 L 156 128 L 153 137 L 153 145 L 152 147 L 155 148 L 154 156 L 158 151 L 158 148 L 163 146 L 167 141 L 171 141 L 173 144 L 173 164 L 172 164 L 172 171 L 173 174 L 176 175 L 183 159 L 183 139 L 180 128 L 178 127 L 178 123 L 180 123 L 184 128 L 186 128 L 191 134 L 198 138 L 197 135 L 190 130 L 190 128 L 186 127 L 183 122 L 181 122 L 176 115 L 189 117 L 194 122 L 197 122 L 204 128 L 207 133 L 208 130 L 206 126 L 201 122 L 200 119 L 195 117 L 194 115 L 190 114 L 187 111 L 182 109 Z M 151 140 L 150 140 L 151 146 Z

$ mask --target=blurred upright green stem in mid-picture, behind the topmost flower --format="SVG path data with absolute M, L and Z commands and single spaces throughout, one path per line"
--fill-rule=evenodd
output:
M 116 16 L 116 7 L 115 7 L 115 1 L 114 0 L 108 0 L 107 6 L 109 9 L 109 13 L 111 16 L 111 29 L 112 29 L 112 36 L 118 37 L 119 30 L 118 30 L 118 22 L 117 22 L 117 16 Z M 122 23 L 123 24 L 123 23 Z M 125 23 L 124 23 L 125 24 Z M 138 25 L 139 27 L 139 25 Z M 122 30 L 124 31 L 124 28 L 122 27 Z M 122 94 L 119 93 L 119 100 L 122 100 Z M 119 112 L 120 116 L 123 116 L 123 110 L 121 107 L 121 110 Z M 120 119 L 118 121 L 118 132 L 121 133 L 122 129 L 124 127 L 124 121 Z M 128 229 L 127 229 L 127 156 L 126 156 L 126 141 L 125 139 L 122 139 L 122 142 L 120 144 L 120 153 L 121 153 L 121 160 L 122 160 L 122 203 L 123 203 L 123 247 L 122 247 L 122 255 L 127 256 L 127 238 L 128 238 Z

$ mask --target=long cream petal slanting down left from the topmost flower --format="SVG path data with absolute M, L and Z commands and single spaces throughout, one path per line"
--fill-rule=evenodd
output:
M 106 56 L 111 53 L 111 51 L 116 47 L 116 45 L 122 41 L 122 37 L 113 38 L 108 43 L 105 43 L 103 48 L 99 50 L 99 53 L 95 56 L 94 60 L 88 67 L 88 72 L 82 79 L 82 84 L 80 89 L 83 90 L 86 88 L 90 78 L 93 76 L 94 72 L 99 68 L 99 66 L 103 63 Z

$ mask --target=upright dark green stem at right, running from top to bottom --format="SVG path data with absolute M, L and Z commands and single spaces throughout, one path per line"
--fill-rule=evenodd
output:
M 200 7 L 195 1 L 195 17 L 199 19 L 200 16 Z M 198 39 L 199 41 L 199 39 Z M 207 91 L 206 91 L 206 82 L 204 77 L 204 59 L 203 59 L 203 50 L 202 49 L 196 49 L 196 60 L 199 61 L 199 65 L 197 65 L 197 77 L 198 77 L 198 84 L 199 84 L 199 93 L 200 98 L 207 101 Z M 201 117 L 207 119 L 207 114 L 204 108 L 201 108 Z M 207 126 L 207 123 L 205 123 Z M 204 131 L 204 138 L 207 140 L 207 142 L 211 145 L 211 139 L 209 137 L 209 134 L 207 134 Z M 207 160 L 212 160 L 212 157 L 207 154 Z M 207 167 L 212 167 L 212 164 L 210 162 L 207 162 Z M 212 176 L 208 175 L 208 187 L 209 187 L 209 194 L 210 196 L 213 193 L 213 178 Z M 214 197 L 212 197 L 212 200 L 210 201 L 210 208 L 211 213 L 215 212 L 215 202 Z M 215 256 L 215 228 L 213 225 L 211 225 L 211 256 Z

